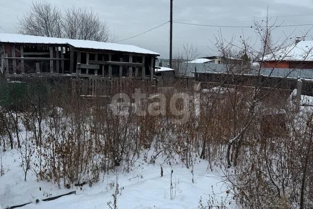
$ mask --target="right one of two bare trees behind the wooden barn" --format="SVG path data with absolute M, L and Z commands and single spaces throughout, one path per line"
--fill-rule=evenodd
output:
M 65 10 L 64 37 L 92 41 L 113 42 L 116 37 L 92 9 L 72 6 Z

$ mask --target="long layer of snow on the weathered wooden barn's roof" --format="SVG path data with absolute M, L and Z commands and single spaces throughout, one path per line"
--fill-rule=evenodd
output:
M 30 43 L 30 44 L 68 44 L 76 48 L 92 48 L 112 51 L 125 51 L 140 54 L 159 55 L 154 51 L 133 45 L 97 42 L 89 40 L 63 39 L 44 36 L 30 36 L 21 34 L 0 33 L 0 42 L 8 43 Z

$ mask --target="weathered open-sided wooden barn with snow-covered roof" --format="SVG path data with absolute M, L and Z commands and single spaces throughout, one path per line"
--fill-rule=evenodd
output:
M 5 77 L 27 73 L 154 80 L 157 56 L 132 45 L 0 34 L 0 71 Z

